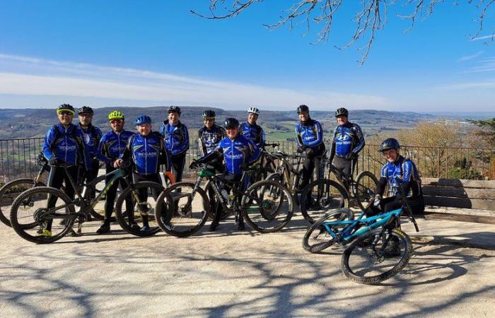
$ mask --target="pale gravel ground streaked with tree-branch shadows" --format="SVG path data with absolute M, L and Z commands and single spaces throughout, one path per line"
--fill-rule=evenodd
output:
M 289 225 L 261 235 L 228 218 L 218 232 L 180 239 L 118 225 L 95 235 L 99 223 L 88 223 L 83 237 L 34 245 L 2 224 L 1 316 L 494 317 L 495 251 L 462 247 L 480 237 L 495 247 L 493 226 L 419 220 L 409 264 L 370 286 L 345 278 L 342 249 L 305 252 L 301 217 Z

